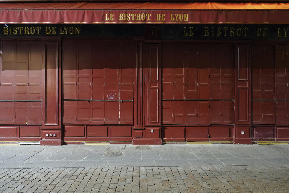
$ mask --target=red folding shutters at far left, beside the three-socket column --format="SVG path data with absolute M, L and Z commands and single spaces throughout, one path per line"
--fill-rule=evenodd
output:
M 1 41 L 2 100 L 42 100 L 41 41 Z M 40 125 L 42 103 L 0 102 L 0 123 Z

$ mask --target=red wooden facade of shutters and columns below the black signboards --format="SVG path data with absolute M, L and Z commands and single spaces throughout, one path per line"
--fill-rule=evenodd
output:
M 288 54 L 270 42 L 1 40 L 0 140 L 288 141 Z

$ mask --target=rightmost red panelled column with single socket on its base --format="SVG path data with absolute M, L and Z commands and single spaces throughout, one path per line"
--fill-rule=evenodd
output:
M 235 46 L 234 144 L 252 144 L 251 138 L 251 46 Z

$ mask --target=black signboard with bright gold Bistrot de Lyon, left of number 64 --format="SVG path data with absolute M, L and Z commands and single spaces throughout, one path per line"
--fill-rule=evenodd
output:
M 135 37 L 144 36 L 140 24 L 1 24 L 0 37 Z

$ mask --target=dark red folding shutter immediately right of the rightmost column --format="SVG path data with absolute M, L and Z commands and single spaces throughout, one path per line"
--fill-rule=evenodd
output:
M 252 122 L 253 124 L 275 124 L 275 71 L 274 46 L 253 45 L 252 52 Z

